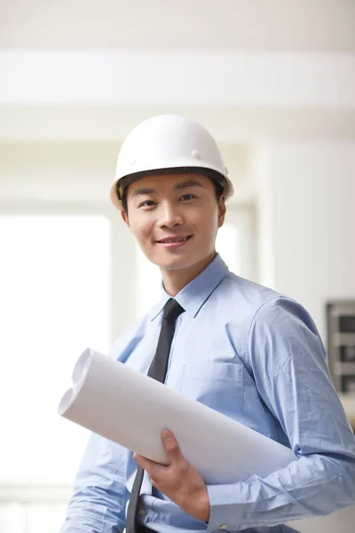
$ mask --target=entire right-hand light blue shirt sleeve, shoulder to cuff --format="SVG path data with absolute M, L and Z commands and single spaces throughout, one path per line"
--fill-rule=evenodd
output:
M 209 486 L 209 530 L 241 531 L 333 513 L 355 501 L 355 438 L 310 315 L 289 298 L 256 313 L 246 356 L 298 460 L 265 478 Z

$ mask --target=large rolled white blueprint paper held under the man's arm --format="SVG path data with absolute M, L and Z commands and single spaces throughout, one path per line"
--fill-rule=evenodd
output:
M 169 428 L 206 484 L 265 477 L 298 460 L 279 442 L 91 349 L 76 362 L 72 378 L 59 415 L 162 464 L 168 457 L 161 433 Z M 301 533 L 350 533 L 354 523 L 355 506 L 288 525 Z

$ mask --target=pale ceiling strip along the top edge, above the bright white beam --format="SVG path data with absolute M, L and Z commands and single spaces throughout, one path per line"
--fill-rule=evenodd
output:
M 353 0 L 0 0 L 4 48 L 355 51 Z

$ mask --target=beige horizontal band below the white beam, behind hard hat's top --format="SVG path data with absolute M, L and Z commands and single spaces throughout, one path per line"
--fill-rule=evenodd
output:
M 4 106 L 0 142 L 120 142 L 148 116 L 177 113 L 203 123 L 218 142 L 355 139 L 355 109 L 225 106 Z

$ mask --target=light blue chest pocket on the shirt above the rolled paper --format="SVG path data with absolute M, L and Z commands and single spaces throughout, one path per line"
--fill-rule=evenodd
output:
M 232 362 L 185 364 L 181 393 L 242 422 L 243 371 Z

